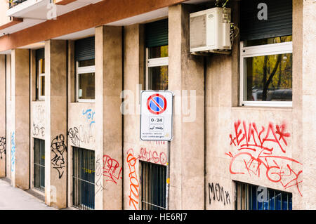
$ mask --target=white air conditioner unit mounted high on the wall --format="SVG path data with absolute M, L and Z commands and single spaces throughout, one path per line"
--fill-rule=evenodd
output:
M 190 52 L 231 50 L 230 8 L 209 8 L 190 13 Z

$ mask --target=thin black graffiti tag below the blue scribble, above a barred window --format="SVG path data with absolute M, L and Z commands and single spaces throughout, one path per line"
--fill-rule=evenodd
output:
M 77 147 L 80 147 L 81 143 L 90 144 L 95 142 L 90 126 L 80 125 L 79 127 L 71 128 L 68 131 L 68 135 L 72 141 L 72 145 Z

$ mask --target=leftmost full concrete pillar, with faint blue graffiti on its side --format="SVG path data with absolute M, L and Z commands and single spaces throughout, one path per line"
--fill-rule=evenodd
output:
M 11 53 L 11 183 L 29 188 L 29 50 Z M 16 129 L 18 127 L 18 129 Z

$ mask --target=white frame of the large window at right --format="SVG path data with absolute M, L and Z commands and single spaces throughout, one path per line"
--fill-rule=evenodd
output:
M 293 54 L 293 42 L 282 42 L 276 44 L 263 44 L 258 46 L 244 46 L 244 41 L 240 41 L 240 59 L 239 59 L 239 106 L 252 106 L 252 107 L 292 107 L 293 95 L 291 101 L 248 101 L 244 100 L 246 77 L 244 75 L 244 59 L 265 56 L 265 55 L 277 55 L 283 53 Z M 293 77 L 293 72 L 292 72 Z M 293 79 L 292 79 L 293 80 Z M 293 93 L 293 88 L 292 88 Z

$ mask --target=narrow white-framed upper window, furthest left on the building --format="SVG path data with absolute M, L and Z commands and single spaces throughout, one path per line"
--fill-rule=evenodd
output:
M 36 51 L 37 61 L 37 99 L 45 100 L 45 58 L 44 48 Z

